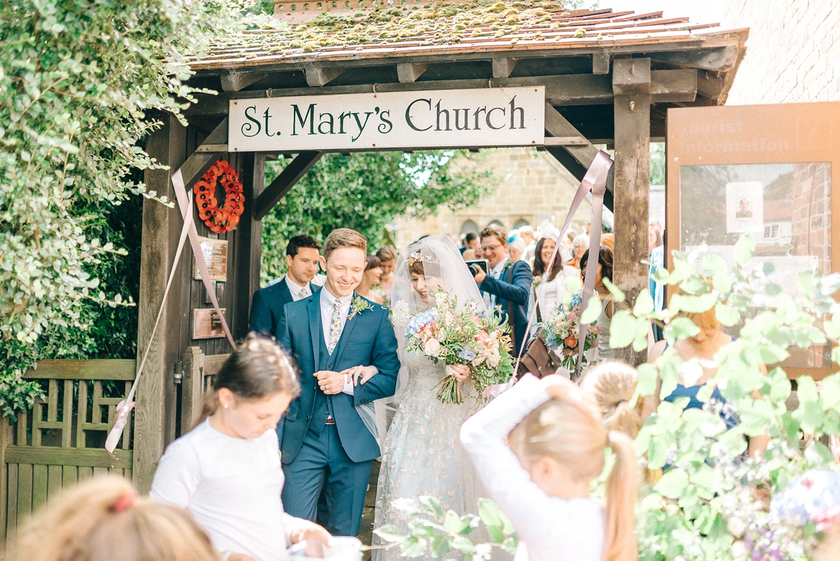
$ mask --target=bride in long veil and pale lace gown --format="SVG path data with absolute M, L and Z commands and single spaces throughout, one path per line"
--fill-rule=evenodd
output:
M 458 438 L 461 425 L 475 412 L 475 390 L 471 390 L 472 396 L 464 403 L 450 405 L 438 401 L 435 387 L 447 374 L 468 386 L 469 367 L 434 364 L 419 352 L 406 351 L 407 320 L 434 307 L 434 292 L 438 287 L 455 296 L 459 305 L 475 300 L 479 311 L 486 312 L 478 286 L 448 236 L 420 239 L 400 255 L 391 291 L 402 364 L 396 396 L 391 401 L 399 403 L 399 407 L 385 438 L 374 527 L 386 524 L 406 527 L 405 516 L 393 503 L 396 499 L 420 495 L 438 497 L 444 511 L 477 512 L 480 482 Z M 373 551 L 373 561 L 397 558 L 400 558 L 399 548 Z

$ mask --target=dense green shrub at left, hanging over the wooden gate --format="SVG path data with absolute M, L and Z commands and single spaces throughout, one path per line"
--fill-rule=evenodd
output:
M 36 359 L 134 354 L 144 186 L 132 171 L 155 165 L 141 141 L 158 124 L 150 112 L 178 113 L 192 100 L 181 61 L 242 27 L 241 8 L 235 0 L 0 6 L 4 414 L 38 394 L 20 380 Z

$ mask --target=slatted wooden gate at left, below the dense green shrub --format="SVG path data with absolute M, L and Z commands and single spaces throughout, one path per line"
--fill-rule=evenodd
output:
M 39 380 L 46 396 L 17 422 L 0 421 L 0 492 L 7 499 L 0 501 L 0 537 L 13 540 L 18 525 L 62 487 L 98 474 L 131 479 L 134 415 L 116 459 L 104 444 L 135 370 L 131 359 L 39 360 L 37 369 L 24 375 Z

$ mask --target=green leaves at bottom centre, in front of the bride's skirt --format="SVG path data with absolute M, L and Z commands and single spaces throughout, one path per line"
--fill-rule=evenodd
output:
M 465 561 L 490 559 L 493 548 L 513 553 L 517 548 L 517 537 L 513 525 L 495 502 L 479 499 L 478 516 L 459 515 L 454 511 L 444 512 L 441 502 L 432 496 L 420 499 L 397 499 L 394 506 L 410 518 L 406 527 L 383 526 L 373 532 L 391 546 L 399 546 L 407 558 L 444 558 L 451 552 L 458 552 Z M 484 524 L 490 543 L 475 543 L 470 539 L 472 532 Z

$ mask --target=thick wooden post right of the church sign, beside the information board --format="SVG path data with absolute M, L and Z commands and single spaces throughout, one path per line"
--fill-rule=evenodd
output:
M 647 80 L 647 81 L 646 81 Z M 648 194 L 650 191 L 650 59 L 613 61 L 616 170 L 615 255 L 612 281 L 633 307 L 639 292 L 648 288 Z M 613 349 L 612 356 L 642 364 L 647 350 Z

